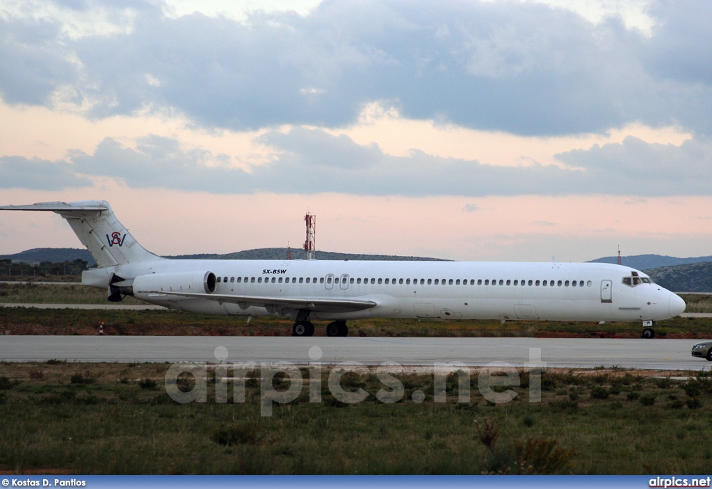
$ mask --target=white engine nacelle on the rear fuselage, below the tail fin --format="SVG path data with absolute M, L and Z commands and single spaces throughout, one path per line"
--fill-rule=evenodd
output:
M 216 278 L 212 272 L 152 273 L 134 278 L 131 289 L 136 298 L 155 299 L 157 293 L 211 294 L 215 292 L 215 284 Z

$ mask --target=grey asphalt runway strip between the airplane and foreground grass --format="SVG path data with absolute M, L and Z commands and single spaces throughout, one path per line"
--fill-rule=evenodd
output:
M 482 366 L 507 362 L 523 367 L 624 367 L 709 370 L 692 357 L 698 340 L 607 340 L 560 338 L 379 338 L 379 337 L 185 337 L 185 336 L 0 336 L 0 361 L 43 362 L 360 362 L 432 366 L 462 362 Z M 319 349 L 312 349 L 318 347 Z M 310 350 L 311 349 L 311 350 Z M 310 357 L 310 351 L 314 358 Z M 317 355 L 316 353 L 320 353 Z M 531 356 L 530 356 L 531 355 Z

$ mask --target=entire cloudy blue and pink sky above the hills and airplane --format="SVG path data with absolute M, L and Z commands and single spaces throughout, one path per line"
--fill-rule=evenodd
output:
M 161 255 L 712 255 L 712 3 L 0 0 L 0 205 Z M 0 254 L 79 247 L 0 212 Z M 294 253 L 298 256 L 298 253 Z M 317 253 L 318 256 L 318 253 Z

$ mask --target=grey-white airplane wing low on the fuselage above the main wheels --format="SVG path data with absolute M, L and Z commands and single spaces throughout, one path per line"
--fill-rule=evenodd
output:
M 151 291 L 157 295 L 181 295 L 196 299 L 215 300 L 218 303 L 237 304 L 241 309 L 250 306 L 264 307 L 270 312 L 285 312 L 286 310 L 308 310 L 313 312 L 353 312 L 375 307 L 372 300 L 357 299 L 324 299 L 324 298 L 282 298 L 258 295 L 227 295 L 227 294 L 197 294 L 187 292 Z

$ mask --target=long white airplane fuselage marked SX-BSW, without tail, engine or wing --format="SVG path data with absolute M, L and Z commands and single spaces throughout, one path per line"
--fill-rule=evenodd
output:
M 369 317 L 476 320 L 665 320 L 684 301 L 648 282 L 626 285 L 642 272 L 607 263 L 516 263 L 449 261 L 253 261 L 169 260 L 103 269 L 123 278 L 152 273 L 209 271 L 219 277 L 215 294 L 278 298 L 357 299 L 376 305 L 349 312 L 312 312 L 313 319 Z M 93 270 L 85 283 L 105 287 Z M 575 284 L 575 285 L 574 285 Z M 172 309 L 221 315 L 270 315 L 254 305 L 137 294 Z M 293 315 L 293 313 L 287 313 Z

